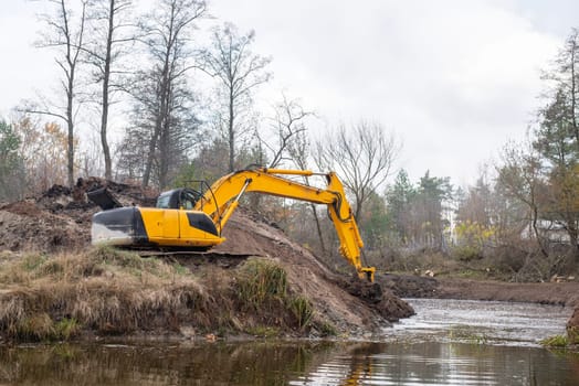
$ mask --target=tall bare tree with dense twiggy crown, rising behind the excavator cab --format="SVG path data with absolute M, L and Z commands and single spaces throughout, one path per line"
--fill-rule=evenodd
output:
M 190 49 L 193 23 L 206 13 L 202 0 L 159 0 L 155 11 L 140 28 L 152 68 L 139 72 L 134 92 L 140 136 L 148 137 L 143 185 L 150 182 L 151 170 L 158 170 L 159 185 L 168 183 L 169 165 L 181 158 L 197 128 L 191 108 L 192 94 L 187 87 L 187 72 L 193 67 Z M 139 135 L 136 132 L 129 133 Z

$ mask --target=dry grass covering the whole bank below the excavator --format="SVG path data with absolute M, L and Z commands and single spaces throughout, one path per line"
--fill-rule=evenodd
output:
M 180 265 L 112 248 L 55 256 L 0 254 L 0 335 L 66 340 L 83 331 L 240 332 L 273 326 L 304 331 L 313 310 L 290 294 L 271 260 L 238 269 Z

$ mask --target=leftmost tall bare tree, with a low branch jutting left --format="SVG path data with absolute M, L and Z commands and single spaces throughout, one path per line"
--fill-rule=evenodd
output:
M 46 0 L 53 9 L 50 14 L 44 14 L 41 19 L 48 25 L 39 47 L 54 49 L 56 54 L 54 60 L 61 68 L 61 87 L 65 95 L 64 107 L 52 106 L 29 106 L 27 112 L 41 114 L 62 119 L 67 128 L 67 183 L 74 184 L 74 152 L 75 152 L 75 115 L 76 104 L 76 81 L 77 66 L 81 53 L 84 47 L 84 33 L 86 22 L 86 0 L 80 1 L 81 12 L 75 17 L 73 12 L 73 1 L 70 0 Z M 78 1 L 76 1 L 78 2 Z

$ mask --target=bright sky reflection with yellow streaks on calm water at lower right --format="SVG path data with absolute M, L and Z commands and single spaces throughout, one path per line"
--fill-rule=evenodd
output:
M 378 352 L 377 352 L 378 351 Z M 371 353 L 375 352 L 375 353 Z M 577 385 L 579 358 L 543 349 L 382 344 L 337 355 L 291 385 Z

